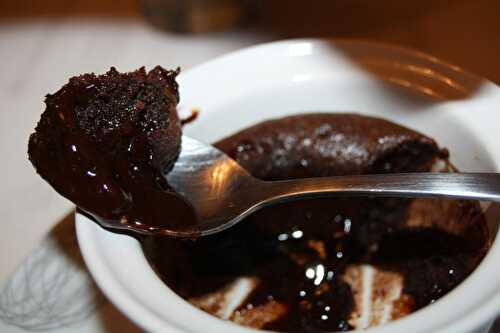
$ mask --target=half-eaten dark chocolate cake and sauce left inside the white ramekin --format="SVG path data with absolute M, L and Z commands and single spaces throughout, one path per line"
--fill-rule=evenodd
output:
M 358 115 L 268 121 L 217 146 L 266 180 L 429 171 L 436 159 L 447 157 L 432 139 Z M 439 221 L 434 227 L 410 227 L 413 202 L 329 198 L 286 203 L 195 242 L 149 237 L 143 247 L 159 276 L 186 299 L 252 277 L 258 285 L 239 312 L 270 302 L 285 309 L 258 327 L 345 331 L 352 328 L 353 295 L 342 277 L 349 265 L 368 263 L 402 274 L 406 306 L 414 311 L 454 288 L 484 255 L 488 234 L 477 203 L 454 201 L 456 214 L 440 217 L 445 225 L 453 218 L 462 226 L 452 232 L 440 228 Z

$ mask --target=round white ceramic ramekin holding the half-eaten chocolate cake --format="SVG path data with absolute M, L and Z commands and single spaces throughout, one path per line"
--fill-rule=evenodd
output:
M 437 139 L 464 171 L 500 164 L 500 89 L 432 57 L 361 42 L 293 40 L 252 47 L 179 77 L 181 110 L 201 110 L 185 134 L 213 142 L 265 119 L 308 111 L 381 116 Z M 126 315 L 150 332 L 253 332 L 183 301 L 155 275 L 134 239 L 77 216 L 90 272 Z M 166 253 L 165 255 L 169 255 Z M 500 310 L 500 245 L 459 287 L 371 332 L 467 332 Z M 494 297 L 495 296 L 495 297 Z

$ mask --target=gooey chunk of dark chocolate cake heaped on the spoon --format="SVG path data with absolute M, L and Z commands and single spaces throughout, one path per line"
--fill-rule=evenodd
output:
M 159 66 L 130 73 L 111 68 L 71 78 L 47 95 L 30 137 L 37 172 L 94 216 L 143 218 L 134 207 L 165 198 L 159 194 L 168 190 L 164 174 L 180 150 L 178 73 Z

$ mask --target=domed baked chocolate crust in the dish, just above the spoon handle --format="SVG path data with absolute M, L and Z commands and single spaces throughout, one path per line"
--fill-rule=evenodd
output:
M 269 120 L 217 144 L 262 179 L 428 171 L 436 142 L 387 120 L 316 113 Z

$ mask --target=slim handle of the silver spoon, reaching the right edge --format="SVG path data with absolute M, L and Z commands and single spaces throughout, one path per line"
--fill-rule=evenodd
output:
M 354 195 L 500 201 L 500 174 L 400 173 L 305 178 L 264 182 L 263 190 L 265 203 Z

